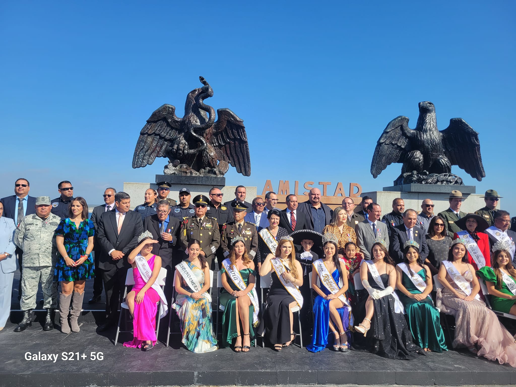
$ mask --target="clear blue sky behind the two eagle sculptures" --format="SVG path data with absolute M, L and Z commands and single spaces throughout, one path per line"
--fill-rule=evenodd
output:
M 401 167 L 369 173 L 383 128 L 398 115 L 414 127 L 431 101 L 441 130 L 462 117 L 480 134 L 487 177 L 453 172 L 516 215 L 516 3 L 217 3 L 2 2 L 0 196 L 19 176 L 35 196 L 70 180 L 91 204 L 106 186 L 154 181 L 165 158 L 131 168 L 139 131 L 164 103 L 182 116 L 202 75 L 208 104 L 246 125 L 252 173 L 231 168 L 228 185 L 381 190 Z

